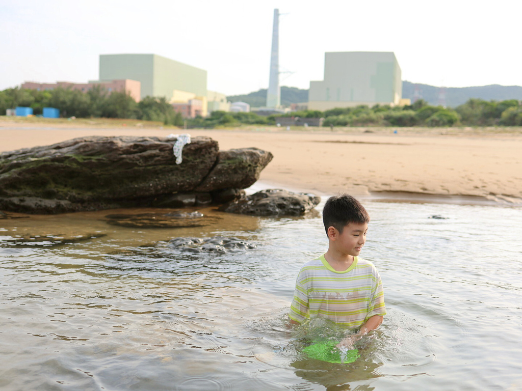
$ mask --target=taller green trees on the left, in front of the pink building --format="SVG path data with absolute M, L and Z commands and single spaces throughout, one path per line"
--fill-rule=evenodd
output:
M 160 121 L 165 125 L 183 125 L 183 118 L 164 97 L 146 96 L 136 101 L 125 92 L 110 93 L 101 85 L 87 92 L 69 88 L 37 91 L 9 88 L 0 91 L 0 115 L 17 106 L 31 107 L 34 115 L 42 114 L 44 107 L 60 110 L 62 117 L 104 117 Z

